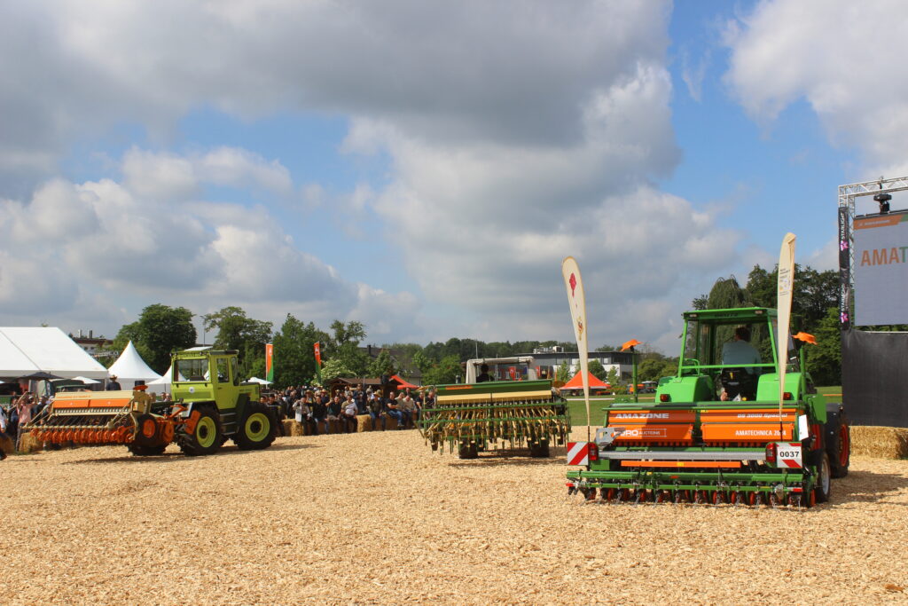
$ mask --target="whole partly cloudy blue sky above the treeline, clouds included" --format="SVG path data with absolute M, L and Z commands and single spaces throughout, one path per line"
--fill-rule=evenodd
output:
M 240 305 L 371 343 L 568 340 L 571 254 L 592 343 L 674 351 L 716 277 L 786 231 L 833 267 L 835 188 L 903 174 L 906 43 L 867 41 L 906 12 L 5 3 L 0 324 Z

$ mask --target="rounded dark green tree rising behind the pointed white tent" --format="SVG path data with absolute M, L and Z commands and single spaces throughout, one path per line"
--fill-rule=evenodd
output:
M 114 347 L 123 351 L 129 341 L 155 373 L 170 368 L 171 354 L 195 344 L 192 312 L 185 307 L 154 303 L 142 310 L 139 319 L 117 333 Z

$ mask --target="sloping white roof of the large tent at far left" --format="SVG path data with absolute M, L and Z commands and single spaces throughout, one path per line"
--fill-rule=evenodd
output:
M 59 328 L 0 327 L 0 377 L 51 373 L 103 381 L 107 369 Z

